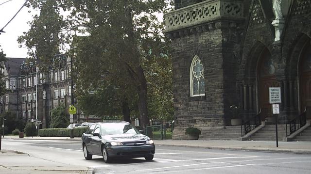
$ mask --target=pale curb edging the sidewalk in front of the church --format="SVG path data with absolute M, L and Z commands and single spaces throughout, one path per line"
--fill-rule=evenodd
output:
M 199 146 L 199 145 L 182 145 L 182 144 L 160 144 L 155 145 L 173 146 L 173 147 L 193 147 L 205 149 L 219 149 L 219 150 L 239 150 L 239 151 L 257 151 L 257 152 L 273 152 L 273 153 L 294 153 L 294 154 L 311 154 L 311 150 L 304 149 L 260 149 L 251 147 L 215 147 L 215 146 Z

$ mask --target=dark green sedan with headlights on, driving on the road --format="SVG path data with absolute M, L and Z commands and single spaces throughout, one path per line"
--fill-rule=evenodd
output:
M 155 144 L 128 122 L 96 123 L 82 135 L 84 157 L 103 156 L 106 163 L 113 158 L 144 157 L 152 160 Z

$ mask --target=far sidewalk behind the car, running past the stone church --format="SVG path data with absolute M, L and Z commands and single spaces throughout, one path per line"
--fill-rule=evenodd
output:
M 5 136 L 7 139 L 20 139 L 17 136 Z M 65 140 L 81 141 L 76 137 L 24 137 L 23 140 Z M 222 150 L 264 151 L 279 153 L 311 154 L 311 142 L 278 142 L 276 141 L 226 141 L 226 140 L 154 140 L 156 146 L 199 147 Z

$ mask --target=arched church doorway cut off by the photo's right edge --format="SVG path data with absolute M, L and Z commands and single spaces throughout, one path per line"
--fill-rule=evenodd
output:
M 307 107 L 307 117 L 311 118 L 311 45 L 305 46 L 299 63 L 300 111 Z

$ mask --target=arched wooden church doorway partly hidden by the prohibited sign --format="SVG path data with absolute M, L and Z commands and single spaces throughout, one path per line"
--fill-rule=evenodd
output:
M 272 108 L 269 103 L 269 87 L 279 86 L 276 80 L 276 68 L 271 61 L 271 54 L 267 48 L 262 52 L 257 66 L 259 109 L 261 120 L 272 117 Z

